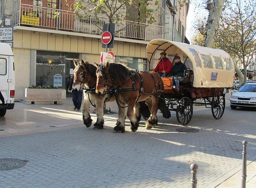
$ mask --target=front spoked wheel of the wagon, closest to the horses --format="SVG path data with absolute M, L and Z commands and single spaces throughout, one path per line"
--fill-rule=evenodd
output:
M 176 117 L 180 124 L 189 123 L 193 115 L 193 103 L 188 97 L 182 97 L 177 105 Z

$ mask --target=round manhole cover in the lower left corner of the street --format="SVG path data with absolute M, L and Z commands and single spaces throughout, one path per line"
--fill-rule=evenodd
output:
M 27 160 L 21 159 L 0 159 L 0 170 L 13 170 L 25 166 Z

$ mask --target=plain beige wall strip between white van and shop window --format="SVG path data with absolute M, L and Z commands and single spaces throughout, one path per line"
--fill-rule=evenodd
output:
M 30 83 L 30 49 L 13 48 L 15 64 L 15 99 L 22 99 Z

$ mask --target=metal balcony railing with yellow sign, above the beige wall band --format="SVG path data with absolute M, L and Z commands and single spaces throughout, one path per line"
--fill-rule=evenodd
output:
M 100 28 L 108 22 L 105 17 L 80 19 L 74 12 L 22 4 L 19 0 L 15 2 L 15 25 L 101 35 Z M 120 30 L 115 37 L 145 41 L 155 38 L 173 40 L 174 36 L 173 30 L 167 27 L 131 21 L 119 22 L 115 25 L 115 30 Z

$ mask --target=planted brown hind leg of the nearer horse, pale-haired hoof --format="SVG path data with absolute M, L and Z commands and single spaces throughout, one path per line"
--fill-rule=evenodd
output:
M 151 115 L 146 121 L 146 129 L 154 128 L 157 125 L 157 110 L 158 110 L 158 98 L 155 96 L 151 97 L 152 99 L 152 108 Z

